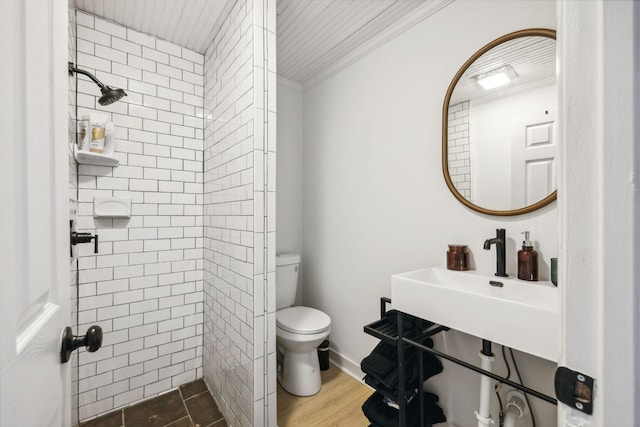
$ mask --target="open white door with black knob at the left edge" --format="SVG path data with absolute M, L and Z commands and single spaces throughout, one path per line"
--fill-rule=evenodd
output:
M 0 426 L 70 425 L 67 2 L 2 0 Z

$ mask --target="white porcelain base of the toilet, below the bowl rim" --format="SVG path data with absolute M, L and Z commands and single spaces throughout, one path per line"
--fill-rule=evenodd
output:
M 281 357 L 278 382 L 283 389 L 296 396 L 312 396 L 320 391 L 322 379 L 315 348 L 307 353 L 284 351 Z

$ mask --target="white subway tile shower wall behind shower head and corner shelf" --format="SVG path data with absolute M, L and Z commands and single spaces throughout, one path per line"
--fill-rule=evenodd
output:
M 78 67 L 127 92 L 100 106 L 78 78 L 78 116 L 107 114 L 120 166 L 78 166 L 79 318 L 104 331 L 80 357 L 86 420 L 203 376 L 204 57 L 77 12 Z M 70 33 L 73 39 L 73 34 Z M 94 219 L 96 196 L 130 197 L 130 219 Z

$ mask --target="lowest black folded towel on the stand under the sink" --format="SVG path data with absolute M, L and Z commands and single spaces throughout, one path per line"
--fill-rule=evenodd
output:
M 442 408 L 435 402 L 438 396 L 433 393 L 424 393 L 425 421 L 428 426 L 445 422 L 447 418 Z M 399 411 L 384 403 L 384 397 L 378 392 L 374 392 L 362 405 L 362 412 L 369 419 L 372 425 L 382 427 L 400 427 Z M 413 399 L 406 408 L 406 427 L 414 427 L 420 424 L 420 404 L 418 399 Z

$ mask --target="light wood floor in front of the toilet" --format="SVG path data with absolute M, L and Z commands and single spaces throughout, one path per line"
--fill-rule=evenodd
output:
M 278 427 L 367 427 L 362 404 L 373 390 L 333 365 L 321 374 L 315 396 L 293 396 L 278 384 Z

